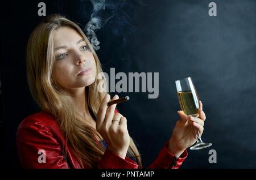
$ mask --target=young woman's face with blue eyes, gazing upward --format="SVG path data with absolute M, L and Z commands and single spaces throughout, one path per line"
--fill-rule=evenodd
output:
M 96 79 L 96 62 L 84 38 L 75 29 L 61 27 L 53 35 L 53 74 L 64 88 L 86 87 Z

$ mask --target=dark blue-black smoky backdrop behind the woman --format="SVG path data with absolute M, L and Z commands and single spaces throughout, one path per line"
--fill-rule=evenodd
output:
M 26 44 L 41 1 L 1 2 L 1 116 L 7 168 L 20 168 L 15 144 L 19 123 L 38 106 L 26 79 Z M 84 27 L 90 1 L 43 1 Z M 217 16 L 208 15 L 209 2 Z M 212 147 L 188 150 L 181 168 L 256 168 L 256 1 L 106 1 L 113 15 L 99 31 L 97 54 L 105 72 L 159 72 L 159 97 L 119 93 L 118 105 L 146 167 L 171 136 L 179 118 L 175 80 L 191 76 L 207 114 L 203 140 Z M 112 93 L 114 95 L 114 93 Z M 2 126 L 1 125 L 1 126 Z M 217 163 L 208 162 L 210 149 Z

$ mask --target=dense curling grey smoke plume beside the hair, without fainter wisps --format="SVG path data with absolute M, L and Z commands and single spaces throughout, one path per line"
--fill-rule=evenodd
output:
M 112 16 L 106 14 L 105 0 L 90 0 L 93 5 L 93 14 L 90 21 L 85 25 L 85 33 L 88 40 L 92 44 L 94 50 L 100 49 L 100 41 L 96 36 L 96 31 L 100 29 Z

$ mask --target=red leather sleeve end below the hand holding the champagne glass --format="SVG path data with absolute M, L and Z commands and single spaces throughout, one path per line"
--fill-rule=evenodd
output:
M 185 158 L 188 156 L 187 150 L 185 150 L 179 158 L 174 158 L 175 156 L 172 155 L 168 151 L 168 142 L 164 144 L 164 147 L 159 152 L 158 156 L 156 157 L 155 161 L 148 166 L 149 169 L 178 169 Z

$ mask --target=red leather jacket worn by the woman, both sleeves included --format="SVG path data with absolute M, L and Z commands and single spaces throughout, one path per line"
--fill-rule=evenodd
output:
M 23 168 L 82 168 L 71 149 L 65 144 L 60 126 L 47 112 L 38 112 L 25 118 L 18 127 L 16 140 Z M 167 143 L 164 144 L 159 155 L 148 168 L 179 168 L 187 157 L 187 150 L 176 160 L 176 163 L 173 163 L 174 155 L 168 152 L 167 145 Z M 63 147 L 66 147 L 66 158 L 63 156 Z M 45 152 L 45 161 L 39 160 L 39 156 L 42 155 L 40 149 Z M 97 167 L 137 169 L 138 164 L 129 157 L 123 159 L 106 149 Z M 85 166 L 84 168 L 88 167 Z

